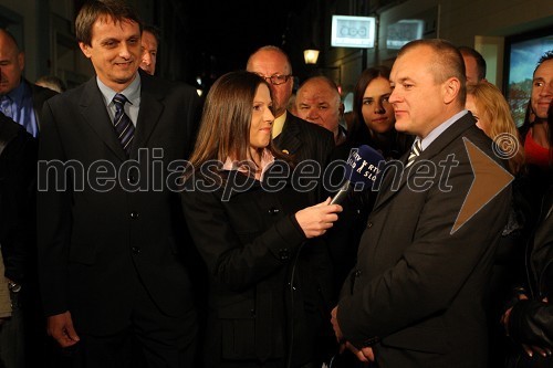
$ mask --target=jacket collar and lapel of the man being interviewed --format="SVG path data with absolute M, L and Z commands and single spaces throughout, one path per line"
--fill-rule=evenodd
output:
M 468 113 L 463 115 L 460 119 L 458 119 L 451 126 L 449 126 L 442 134 L 440 134 L 440 136 L 436 138 L 430 144 L 430 146 L 428 146 L 420 154 L 420 156 L 415 162 L 419 160 L 431 160 L 436 155 L 441 153 L 453 139 L 459 137 L 462 133 L 465 133 L 465 130 L 467 130 L 473 125 L 474 125 L 474 118 L 472 117 L 472 114 Z M 408 155 L 409 151 L 407 151 L 400 159 L 400 162 L 403 164 L 400 165 L 400 168 L 404 168 L 403 171 L 401 170 L 399 170 L 399 172 L 396 172 L 396 170 L 390 170 L 389 172 L 386 171 L 386 175 L 382 180 L 380 190 L 378 191 L 375 209 L 383 206 L 390 198 L 393 198 L 399 190 L 401 190 L 401 188 L 406 185 L 409 177 L 415 174 L 415 170 L 411 170 L 413 166 L 409 168 L 405 168 Z M 397 181 L 396 178 L 399 175 L 400 175 L 399 186 L 393 187 L 393 185 Z

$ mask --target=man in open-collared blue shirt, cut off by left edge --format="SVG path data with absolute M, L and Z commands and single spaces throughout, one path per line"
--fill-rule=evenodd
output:
M 36 137 L 42 105 L 55 92 L 23 78 L 24 66 L 24 52 L 10 32 L 0 29 L 0 112 Z

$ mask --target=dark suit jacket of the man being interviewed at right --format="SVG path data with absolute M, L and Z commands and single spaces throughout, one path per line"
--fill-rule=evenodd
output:
M 357 264 L 344 284 L 337 316 L 344 337 L 357 346 L 373 345 L 380 368 L 487 365 L 483 294 L 511 189 L 502 190 L 451 233 L 474 179 L 465 138 L 498 160 L 491 140 L 469 113 L 418 158 L 436 167 L 437 178 L 426 190 L 416 190 L 409 170 L 393 190 L 393 171 L 387 171 L 359 243 Z M 458 166 L 446 181 L 440 179 L 439 162 L 448 155 Z

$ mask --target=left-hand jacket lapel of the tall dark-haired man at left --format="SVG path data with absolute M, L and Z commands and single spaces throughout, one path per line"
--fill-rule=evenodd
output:
M 98 135 L 109 149 L 122 160 L 126 159 L 121 141 L 117 139 L 113 123 L 107 114 L 102 92 L 96 83 L 96 77 L 86 82 L 84 93 L 79 103 L 81 116 Z

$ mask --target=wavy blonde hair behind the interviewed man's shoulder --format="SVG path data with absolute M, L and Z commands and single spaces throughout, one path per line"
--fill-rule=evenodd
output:
M 509 170 L 512 175 L 519 174 L 524 165 L 524 148 L 503 94 L 489 82 L 468 85 L 467 94 L 474 97 L 474 104 L 480 115 L 490 122 L 490 125 L 483 129 L 486 135 L 493 139 L 500 149 L 510 153 Z M 510 147 L 505 147 L 503 144 L 508 144 Z M 512 146 L 513 144 L 515 146 Z M 515 151 L 512 154 L 513 149 Z

